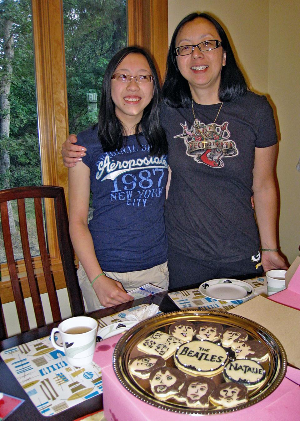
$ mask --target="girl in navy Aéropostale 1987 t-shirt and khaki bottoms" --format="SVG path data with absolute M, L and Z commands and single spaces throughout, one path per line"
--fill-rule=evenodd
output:
M 69 169 L 69 220 L 89 311 L 129 301 L 126 291 L 147 282 L 168 287 L 167 142 L 159 102 L 150 56 L 124 48 L 106 69 L 98 124 L 78 135 L 87 154 Z

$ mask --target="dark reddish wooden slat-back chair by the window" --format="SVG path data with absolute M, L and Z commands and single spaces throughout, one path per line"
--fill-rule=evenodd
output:
M 63 273 L 66 280 L 68 297 L 71 306 L 71 313 L 73 316 L 84 314 L 84 306 L 82 302 L 81 290 L 76 275 L 76 267 L 74 264 L 74 254 L 71 239 L 68 231 L 68 214 L 66 209 L 66 200 L 62 187 L 52 186 L 33 186 L 33 187 L 16 187 L 12 189 L 5 189 L 0 191 L 0 211 L 1 223 L 3 230 L 3 240 L 5 245 L 5 253 L 7 258 L 8 270 L 11 278 L 11 287 L 18 312 L 18 320 L 20 322 L 21 332 L 29 330 L 29 321 L 26 313 L 23 291 L 21 283 L 18 279 L 18 267 L 16 259 L 14 258 L 11 229 L 8 218 L 9 200 L 17 200 L 18 217 L 20 224 L 20 236 L 23 249 L 24 263 L 26 267 L 26 274 L 29 283 L 32 303 L 34 307 L 34 314 L 37 322 L 37 327 L 45 325 L 45 316 L 42 308 L 42 302 L 37 282 L 37 276 L 34 273 L 33 258 L 29 248 L 29 238 L 27 231 L 27 220 L 25 213 L 26 198 L 34 198 L 34 210 L 37 226 L 37 238 L 39 243 L 39 252 L 42 261 L 42 269 L 47 286 L 53 322 L 61 320 L 61 311 L 58 304 L 58 297 L 55 288 L 53 274 L 51 273 L 49 256 L 47 253 L 45 231 L 42 215 L 42 199 L 49 197 L 53 199 L 55 208 L 56 231 L 58 237 L 59 250 L 61 253 L 61 262 L 63 266 Z M 7 337 L 5 328 L 5 320 L 1 306 L 0 314 L 0 340 Z

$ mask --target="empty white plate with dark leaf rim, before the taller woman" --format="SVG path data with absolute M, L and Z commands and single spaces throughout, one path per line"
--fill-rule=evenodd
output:
M 200 285 L 201 294 L 215 300 L 234 301 L 249 298 L 254 294 L 252 285 L 229 278 L 212 279 Z

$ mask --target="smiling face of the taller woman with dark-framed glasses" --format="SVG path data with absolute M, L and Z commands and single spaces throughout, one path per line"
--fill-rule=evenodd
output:
M 176 37 L 176 47 L 183 45 L 197 45 L 207 40 L 219 40 L 220 36 L 214 25 L 197 17 L 189 21 L 179 30 Z M 221 81 L 222 66 L 226 63 L 226 52 L 222 47 L 211 51 L 200 51 L 194 48 L 192 54 L 177 56 L 177 66 L 182 76 L 188 81 L 192 94 L 201 89 L 209 93 L 216 93 L 218 101 L 218 88 Z

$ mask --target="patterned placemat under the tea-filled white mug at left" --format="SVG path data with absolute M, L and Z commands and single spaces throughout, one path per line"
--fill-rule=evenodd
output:
M 99 328 L 124 321 L 126 314 L 148 305 L 103 317 Z M 44 416 L 57 414 L 102 393 L 100 366 L 94 362 L 84 368 L 69 366 L 65 354 L 53 348 L 50 336 L 5 349 L 0 355 Z

